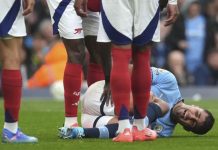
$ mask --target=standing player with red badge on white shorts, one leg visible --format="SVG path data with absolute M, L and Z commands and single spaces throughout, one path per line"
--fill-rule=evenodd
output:
M 53 33 L 59 34 L 67 51 L 64 71 L 65 127 L 78 126 L 82 65 L 85 59 L 82 18 L 77 16 L 74 0 L 47 0 Z

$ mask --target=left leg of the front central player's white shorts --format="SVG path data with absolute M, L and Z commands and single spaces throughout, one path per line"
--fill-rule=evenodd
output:
M 116 11 L 112 11 L 116 10 Z M 130 1 L 103 0 L 102 26 L 109 39 L 116 44 L 130 44 L 132 40 L 133 11 Z M 101 26 L 101 25 L 100 25 Z

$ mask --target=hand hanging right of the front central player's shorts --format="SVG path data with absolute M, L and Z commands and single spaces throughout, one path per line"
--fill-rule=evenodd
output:
M 167 5 L 167 19 L 165 20 L 165 26 L 173 24 L 179 15 L 179 9 L 177 5 Z

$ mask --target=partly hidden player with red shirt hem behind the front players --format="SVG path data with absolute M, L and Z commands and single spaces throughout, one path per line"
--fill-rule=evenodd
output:
M 87 14 L 83 17 L 83 29 L 86 48 L 90 59 L 87 71 L 88 86 L 96 81 L 105 79 L 104 92 L 101 100 L 106 100 L 110 95 L 110 70 L 111 70 L 111 43 L 97 42 L 100 16 L 100 0 L 89 0 Z M 77 9 L 77 7 L 75 7 Z M 103 67 L 103 68 L 102 68 Z M 103 74 L 104 73 L 104 74 Z

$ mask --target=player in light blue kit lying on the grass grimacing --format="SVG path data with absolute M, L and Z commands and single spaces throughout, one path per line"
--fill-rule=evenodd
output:
M 151 68 L 151 72 L 153 96 L 150 98 L 145 119 L 148 126 L 159 137 L 172 136 L 177 123 L 195 134 L 207 133 L 214 124 L 212 114 L 208 110 L 184 103 L 176 78 L 171 72 L 155 67 Z M 114 106 L 102 105 L 104 102 L 99 101 L 103 86 L 103 81 L 94 83 L 82 100 L 81 123 L 84 128 L 62 128 L 62 138 L 112 138 L 116 135 L 117 118 L 114 117 Z M 166 108 L 165 104 L 168 109 L 163 110 Z

